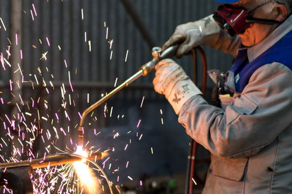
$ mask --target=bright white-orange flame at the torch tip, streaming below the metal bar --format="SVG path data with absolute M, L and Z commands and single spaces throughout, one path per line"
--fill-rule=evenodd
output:
M 88 154 L 82 149 L 82 146 L 77 146 L 75 154 L 87 158 Z M 91 168 L 85 164 L 86 159 L 74 162 L 74 169 L 80 178 L 81 186 L 89 193 L 98 193 L 98 181 Z

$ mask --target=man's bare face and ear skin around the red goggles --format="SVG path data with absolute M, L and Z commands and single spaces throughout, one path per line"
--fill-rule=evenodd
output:
M 259 3 L 256 1 L 239 1 L 238 3 L 234 3 L 235 6 L 240 6 L 246 8 L 247 10 L 251 8 L 256 8 Z M 260 8 L 257 8 L 254 11 L 251 11 L 250 14 L 254 18 L 258 19 L 276 19 L 276 3 L 270 2 L 265 5 L 262 5 Z M 257 45 L 262 40 L 264 40 L 273 30 L 277 27 L 278 24 L 275 25 L 267 25 L 260 23 L 253 23 L 251 27 L 247 28 L 243 34 L 238 34 L 240 36 L 243 45 L 246 47 L 251 47 Z

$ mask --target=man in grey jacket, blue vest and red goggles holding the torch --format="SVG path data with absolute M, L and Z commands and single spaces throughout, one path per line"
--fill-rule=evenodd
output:
M 179 44 L 179 58 L 208 45 L 234 56 L 227 73 L 210 73 L 221 106 L 170 59 L 155 66 L 154 88 L 211 153 L 203 193 L 292 193 L 292 1 L 220 2 L 214 14 L 179 25 L 163 50 Z

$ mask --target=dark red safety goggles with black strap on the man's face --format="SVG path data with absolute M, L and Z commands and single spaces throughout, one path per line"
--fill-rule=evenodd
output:
M 269 2 L 268 2 L 269 3 Z M 266 5 L 263 3 L 262 5 Z M 280 23 L 279 21 L 269 19 L 258 19 L 251 15 L 251 11 L 260 8 L 262 5 L 258 5 L 256 8 L 246 10 L 245 8 L 234 7 L 230 4 L 223 4 L 218 7 L 214 12 L 213 18 L 230 36 L 236 34 L 243 34 L 245 29 L 249 28 L 252 23 L 262 23 L 273 25 Z

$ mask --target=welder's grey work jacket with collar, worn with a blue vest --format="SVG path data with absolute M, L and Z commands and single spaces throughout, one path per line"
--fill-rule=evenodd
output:
M 249 60 L 291 29 L 290 16 L 247 50 Z M 188 135 L 211 152 L 203 193 L 292 193 L 292 71 L 265 64 L 242 93 L 221 99 L 225 108 L 196 95 L 179 112 Z

